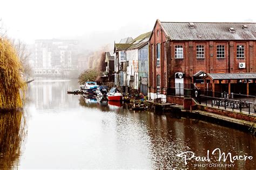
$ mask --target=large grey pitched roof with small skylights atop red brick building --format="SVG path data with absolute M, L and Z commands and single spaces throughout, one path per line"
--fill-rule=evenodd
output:
M 256 40 L 256 23 L 188 23 L 161 22 L 171 40 Z M 247 29 L 243 29 L 246 25 Z M 234 32 L 230 32 L 230 27 Z

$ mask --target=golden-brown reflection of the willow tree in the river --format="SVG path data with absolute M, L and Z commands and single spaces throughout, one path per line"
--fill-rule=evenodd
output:
M 0 168 L 17 168 L 26 137 L 23 111 L 0 111 Z

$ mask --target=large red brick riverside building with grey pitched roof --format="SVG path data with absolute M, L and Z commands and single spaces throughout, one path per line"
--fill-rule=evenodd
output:
M 206 73 L 256 73 L 255 46 L 256 23 L 157 20 L 149 42 L 149 97 L 166 98 L 166 88 L 178 83 L 205 88 L 201 75 Z M 221 90 L 221 86 L 214 88 Z

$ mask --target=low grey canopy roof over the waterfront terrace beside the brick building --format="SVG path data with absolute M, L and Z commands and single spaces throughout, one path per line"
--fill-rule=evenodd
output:
M 208 73 L 212 80 L 256 79 L 256 73 Z

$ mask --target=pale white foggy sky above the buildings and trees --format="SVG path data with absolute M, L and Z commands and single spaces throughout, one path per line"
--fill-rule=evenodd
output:
M 167 22 L 255 22 L 255 4 L 253 0 L 6 0 L 0 1 L 0 18 L 9 37 L 28 44 L 35 39 L 78 39 L 90 49 L 151 31 L 156 19 Z

